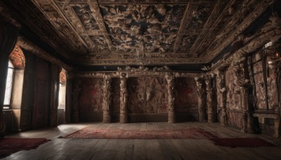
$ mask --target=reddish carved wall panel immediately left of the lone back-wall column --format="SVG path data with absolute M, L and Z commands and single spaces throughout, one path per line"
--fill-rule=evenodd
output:
M 145 77 L 145 112 L 168 112 L 168 92 L 166 85 L 166 79 L 164 77 Z

